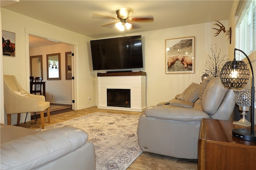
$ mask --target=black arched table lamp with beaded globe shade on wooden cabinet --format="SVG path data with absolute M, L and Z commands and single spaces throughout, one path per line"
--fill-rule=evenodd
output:
M 236 61 L 236 51 L 243 53 L 251 68 L 252 73 L 252 90 L 251 90 L 251 128 L 250 129 L 233 129 L 232 135 L 242 140 L 256 142 L 256 136 L 254 131 L 254 74 L 252 70 L 252 63 L 249 57 L 240 49 L 234 49 L 234 61 L 228 61 L 224 64 L 220 72 L 220 79 L 225 87 L 230 88 L 243 88 L 250 77 L 250 71 L 248 66 L 243 61 Z M 237 96 L 236 96 L 237 97 Z

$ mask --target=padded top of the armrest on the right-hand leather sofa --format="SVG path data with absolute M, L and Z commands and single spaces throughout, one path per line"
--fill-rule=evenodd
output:
M 174 121 L 201 121 L 202 118 L 210 118 L 210 116 L 202 110 L 182 107 L 150 106 L 144 113 L 147 117 Z

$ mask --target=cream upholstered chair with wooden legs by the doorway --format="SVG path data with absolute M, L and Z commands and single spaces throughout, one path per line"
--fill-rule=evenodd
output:
M 50 123 L 50 102 L 42 95 L 26 92 L 13 75 L 4 75 L 4 108 L 7 124 L 11 124 L 11 114 L 18 114 L 17 125 L 20 123 L 20 113 L 40 112 L 42 129 L 44 129 L 44 111 L 47 109 Z

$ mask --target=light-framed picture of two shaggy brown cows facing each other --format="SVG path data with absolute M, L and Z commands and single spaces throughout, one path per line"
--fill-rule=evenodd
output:
M 195 37 L 182 37 L 165 40 L 166 74 L 194 73 Z

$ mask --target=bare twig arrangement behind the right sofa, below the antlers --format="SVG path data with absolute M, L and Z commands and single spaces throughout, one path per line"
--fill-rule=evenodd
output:
M 226 63 L 226 61 L 228 61 L 228 59 L 224 59 L 226 55 L 220 57 L 221 49 L 217 52 L 216 44 L 215 50 L 212 48 L 212 45 L 210 50 L 212 51 L 212 56 L 208 55 L 209 59 L 206 61 L 206 69 L 204 69 L 205 74 L 208 74 L 209 76 L 219 77 L 221 68 Z

